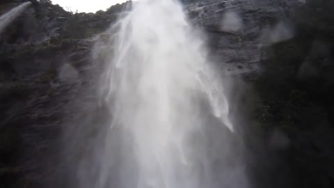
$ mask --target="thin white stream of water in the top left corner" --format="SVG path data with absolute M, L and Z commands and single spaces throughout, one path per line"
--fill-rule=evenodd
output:
M 31 2 L 22 3 L 21 5 L 13 8 L 12 10 L 8 11 L 8 13 L 5 13 L 1 15 L 0 17 L 0 34 L 3 32 L 3 29 L 6 29 L 6 27 L 13 22 L 21 13 L 26 10 L 31 5 Z

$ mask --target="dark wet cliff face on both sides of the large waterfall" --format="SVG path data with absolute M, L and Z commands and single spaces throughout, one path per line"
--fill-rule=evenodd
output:
M 86 14 L 32 2 L 0 37 L 0 185 L 72 186 L 66 174 L 75 170 L 59 161 L 70 151 L 59 146 L 82 120 L 106 119 L 96 84 L 103 57 L 91 49 L 132 3 Z M 0 11 L 18 4 L 1 1 Z M 247 109 L 254 187 L 334 185 L 333 8 L 329 0 L 184 1 L 218 68 L 246 82 L 235 106 Z M 64 136 L 62 127 L 73 131 Z

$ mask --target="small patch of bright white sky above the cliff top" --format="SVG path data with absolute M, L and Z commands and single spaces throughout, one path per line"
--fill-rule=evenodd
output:
M 127 0 L 51 0 L 52 3 L 58 4 L 65 10 L 72 10 L 75 12 L 78 10 L 79 13 L 96 13 L 97 10 L 106 10 L 117 3 L 123 3 Z

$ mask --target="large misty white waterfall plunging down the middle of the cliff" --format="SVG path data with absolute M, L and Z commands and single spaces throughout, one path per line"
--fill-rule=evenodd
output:
M 246 187 L 224 82 L 180 3 L 135 1 L 110 31 L 112 120 L 78 187 Z

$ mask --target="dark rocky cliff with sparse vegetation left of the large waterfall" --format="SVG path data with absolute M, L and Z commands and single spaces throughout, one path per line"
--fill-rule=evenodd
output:
M 6 12 L 17 5 L 8 1 L 0 8 Z M 94 116 L 99 108 L 96 82 L 101 65 L 93 61 L 91 49 L 97 34 L 127 6 L 86 14 L 69 13 L 49 1 L 35 2 L 2 33 L 0 187 L 65 183 L 54 182 L 61 170 L 61 152 L 56 149 L 61 125 L 72 125 L 90 112 Z M 81 95 L 83 91 L 87 95 Z

